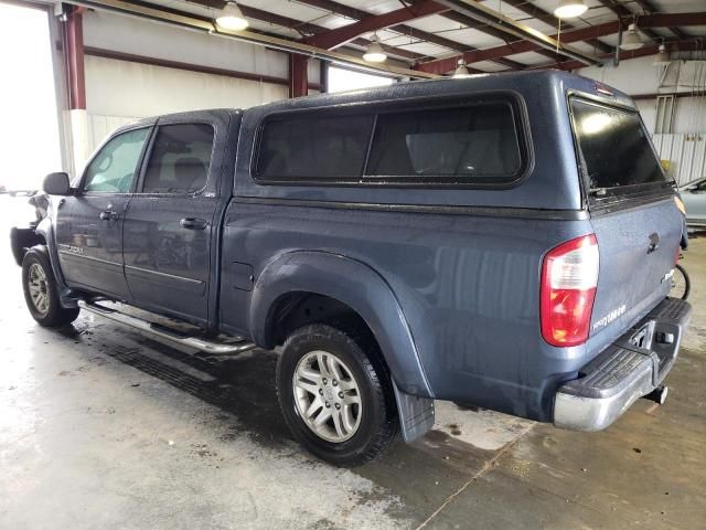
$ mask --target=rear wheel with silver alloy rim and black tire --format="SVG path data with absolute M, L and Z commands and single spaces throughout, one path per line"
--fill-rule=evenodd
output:
M 297 441 L 322 460 L 360 466 L 397 437 L 397 407 L 378 351 L 370 332 L 339 324 L 308 325 L 287 338 L 277 363 L 279 405 Z

